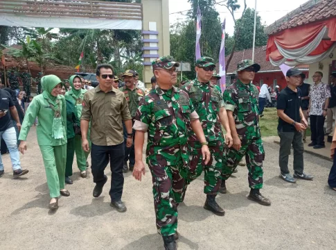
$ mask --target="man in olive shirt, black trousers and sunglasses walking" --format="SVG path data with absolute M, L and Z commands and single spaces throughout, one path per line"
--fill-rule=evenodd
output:
M 119 212 L 125 212 L 126 206 L 121 201 L 123 194 L 123 159 L 124 139 L 123 124 L 127 130 L 127 147 L 132 146 L 132 117 L 128 110 L 125 94 L 112 87 L 114 81 L 111 65 L 98 65 L 96 78 L 99 85 L 94 90 L 88 90 L 82 100 L 82 117 L 80 128 L 82 131 L 82 147 L 89 151 L 87 131 L 91 121 L 91 170 L 94 176 L 94 197 L 99 197 L 103 186 L 107 182 L 104 174 L 105 167 L 110 160 L 111 165 L 111 206 Z

